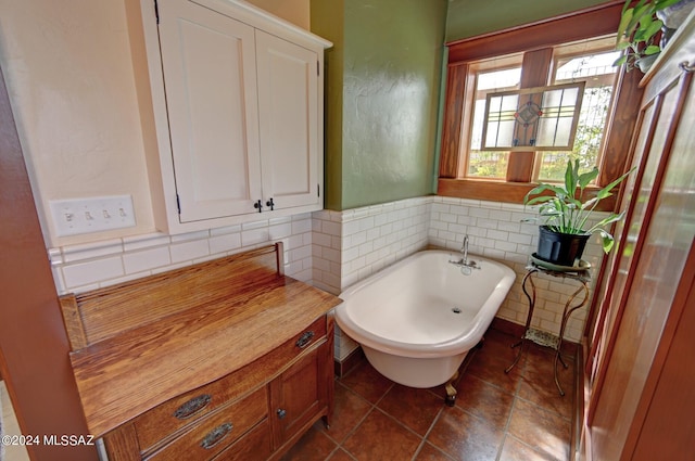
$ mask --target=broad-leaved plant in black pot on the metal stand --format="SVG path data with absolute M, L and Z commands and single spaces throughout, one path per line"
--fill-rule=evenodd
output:
M 616 179 L 590 199 L 582 202 L 584 189 L 598 176 L 598 168 L 589 172 L 579 172 L 579 161 L 567 162 L 564 184 L 539 183 L 523 197 L 526 205 L 540 204 L 539 214 L 545 223 L 539 228 L 539 246 L 534 256 L 547 262 L 573 267 L 581 259 L 589 238 L 598 232 L 604 252 L 608 253 L 615 244 L 614 236 L 606 227 L 624 216 L 624 212 L 611 213 L 593 226 L 589 218 L 598 203 L 612 195 L 611 191 L 633 169 Z

